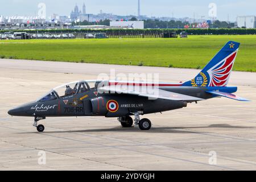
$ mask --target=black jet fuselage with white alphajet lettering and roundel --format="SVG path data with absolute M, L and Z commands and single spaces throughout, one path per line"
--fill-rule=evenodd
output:
M 167 86 L 160 89 L 204 99 L 212 98 L 212 95 L 205 93 L 206 88 Z M 114 105 L 112 105 L 112 101 Z M 112 106 L 113 110 L 110 110 L 109 107 Z M 122 117 L 124 115 L 133 115 L 136 111 L 141 114 L 150 114 L 180 109 L 186 106 L 187 102 L 185 101 L 150 100 L 147 97 L 129 94 L 100 94 L 97 89 L 89 89 L 83 93 L 59 97 L 55 100 L 31 102 L 10 110 L 9 114 L 26 117 L 79 117 L 86 115 Z

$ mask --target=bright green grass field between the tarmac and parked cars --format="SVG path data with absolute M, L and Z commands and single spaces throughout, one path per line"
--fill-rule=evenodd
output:
M 256 72 L 256 35 L 194 35 L 188 39 L 0 40 L 0 57 L 203 68 L 229 40 L 241 43 L 234 70 Z

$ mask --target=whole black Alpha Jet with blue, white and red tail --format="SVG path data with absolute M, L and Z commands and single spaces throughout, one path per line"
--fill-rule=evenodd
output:
M 46 117 L 84 116 L 118 118 L 123 127 L 135 123 L 141 130 L 149 130 L 151 121 L 141 119 L 140 115 L 180 109 L 189 103 L 216 97 L 249 101 L 233 94 L 237 87 L 227 86 L 239 47 L 237 42 L 226 43 L 205 68 L 187 82 L 77 81 L 52 89 L 38 100 L 8 113 L 34 117 L 34 126 L 39 132 L 44 131 L 44 126 L 38 122 Z

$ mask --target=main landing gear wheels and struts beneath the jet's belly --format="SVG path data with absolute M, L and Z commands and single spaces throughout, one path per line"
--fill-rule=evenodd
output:
M 151 129 L 151 121 L 149 119 L 147 119 L 147 118 L 140 119 L 138 112 L 134 113 L 134 116 L 135 116 L 134 124 L 139 125 L 139 129 L 141 129 L 141 130 L 150 130 Z M 133 119 L 130 116 L 119 117 L 118 121 L 121 122 L 121 125 L 123 127 L 133 126 Z

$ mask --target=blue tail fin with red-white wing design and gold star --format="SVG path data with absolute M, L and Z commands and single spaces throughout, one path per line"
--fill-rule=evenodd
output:
M 228 42 L 193 80 L 183 86 L 226 86 L 240 43 Z

